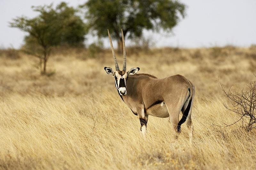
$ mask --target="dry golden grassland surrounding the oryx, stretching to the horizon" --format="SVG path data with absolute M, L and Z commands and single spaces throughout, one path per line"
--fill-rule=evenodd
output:
M 252 169 L 255 130 L 231 124 L 238 117 L 218 84 L 255 80 L 256 47 L 127 49 L 127 69 L 163 78 L 182 74 L 196 86 L 192 110 L 194 143 L 181 126 L 177 142 L 168 118 L 149 116 L 148 135 L 118 96 L 112 54 L 65 51 L 49 59 L 51 76 L 40 75 L 37 58 L 0 57 L 1 169 Z M 122 56 L 118 55 L 120 65 Z M 180 117 L 181 118 L 181 117 Z

